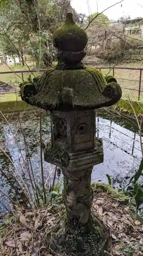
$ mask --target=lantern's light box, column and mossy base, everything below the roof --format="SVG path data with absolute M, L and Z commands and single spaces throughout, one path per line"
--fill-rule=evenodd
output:
M 44 159 L 62 169 L 67 211 L 63 232 L 56 237 L 53 250 L 69 255 L 100 255 L 107 238 L 91 217 L 92 169 L 103 162 L 102 140 L 95 137 L 95 111 L 52 111 L 50 117 L 51 141 Z

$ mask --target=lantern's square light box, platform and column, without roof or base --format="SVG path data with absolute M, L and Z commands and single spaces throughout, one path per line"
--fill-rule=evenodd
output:
M 95 139 L 95 112 L 51 112 L 51 142 L 44 152 L 45 161 L 63 170 L 63 200 L 72 227 L 90 220 L 93 191 L 93 165 L 103 162 L 102 140 Z

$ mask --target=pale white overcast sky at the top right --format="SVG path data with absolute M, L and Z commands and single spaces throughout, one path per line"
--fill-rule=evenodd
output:
M 71 0 L 72 7 L 78 13 L 102 12 L 120 0 Z M 122 4 L 122 7 L 121 7 Z M 97 7 L 98 6 L 98 7 Z M 104 12 L 109 19 L 118 20 L 121 16 L 130 15 L 131 18 L 143 17 L 143 1 L 142 0 L 123 0 L 122 3 L 109 8 Z

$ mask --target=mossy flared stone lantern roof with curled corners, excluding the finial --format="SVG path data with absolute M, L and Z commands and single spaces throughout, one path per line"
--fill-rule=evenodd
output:
M 121 98 L 120 86 L 115 82 L 107 84 L 94 68 L 48 69 L 37 83 L 24 83 L 20 93 L 25 102 L 46 110 L 97 109 Z

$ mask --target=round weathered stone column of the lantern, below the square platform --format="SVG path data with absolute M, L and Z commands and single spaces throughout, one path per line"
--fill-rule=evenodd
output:
M 63 199 L 67 209 L 69 227 L 71 230 L 77 225 L 83 227 L 83 232 L 88 232 L 93 190 L 91 188 L 92 168 L 80 171 L 63 170 L 64 190 Z

